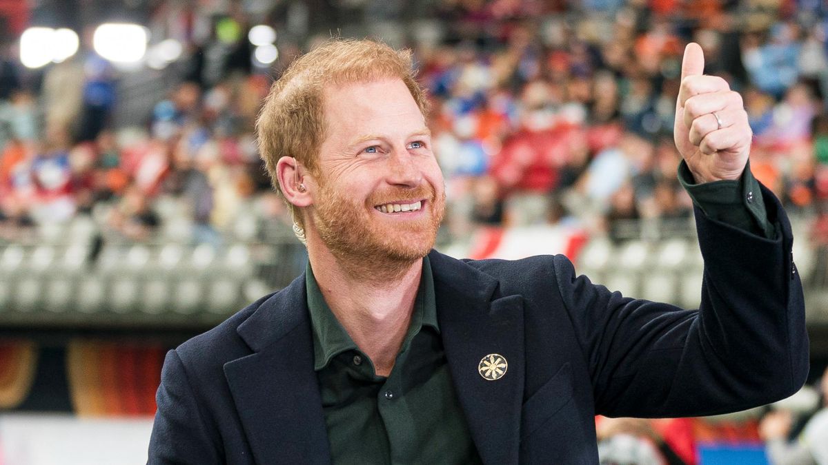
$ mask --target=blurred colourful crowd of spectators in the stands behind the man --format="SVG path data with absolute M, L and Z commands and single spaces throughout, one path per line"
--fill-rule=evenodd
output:
M 159 23 L 200 14 L 159 4 Z M 388 5 L 382 14 L 402 25 L 402 2 Z M 36 84 L 4 59 L 0 241 L 25 242 L 44 224 L 84 216 L 107 237 L 128 242 L 156 240 L 182 216 L 193 243 L 222 243 L 251 213 L 290 231 L 258 159 L 254 123 L 272 77 L 320 39 L 280 37 L 279 59 L 258 70 L 244 33 L 252 18 L 213 13 L 201 18 L 211 33 L 182 33 L 189 42 L 180 84 L 154 105 L 144 127 L 114 127 L 123 104 L 118 71 L 94 52 L 51 65 Z M 705 72 L 744 96 L 754 175 L 789 211 L 815 218 L 810 240 L 828 259 L 823 2 L 441 0 L 424 19 L 436 33 L 409 31 L 404 45 L 412 47 L 431 95 L 449 240 L 492 225 L 577 224 L 620 237 L 616 227 L 625 220 L 689 224 L 672 117 L 681 51 L 697 41 Z M 241 32 L 218 33 L 227 21 Z M 791 434 L 787 422 L 761 431 L 754 422 L 734 438 L 776 441 Z M 608 421 L 599 434 L 646 438 L 657 446 L 654 460 L 662 460 L 652 463 L 673 456 L 683 462 L 672 463 L 695 463 L 687 441 L 699 438 L 699 428 Z M 672 438 L 667 446 L 665 436 Z M 631 450 L 648 453 L 635 444 L 609 441 L 603 457 L 615 451 L 614 463 L 625 463 Z M 647 463 L 637 457 L 629 463 Z

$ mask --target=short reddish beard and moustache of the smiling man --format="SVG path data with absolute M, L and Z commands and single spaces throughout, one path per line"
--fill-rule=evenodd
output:
M 371 194 L 362 204 L 325 181 L 320 179 L 313 223 L 330 252 L 352 271 L 363 269 L 370 274 L 402 271 L 434 247 L 445 212 L 445 193 L 436 194 L 431 185 L 393 188 Z M 395 222 L 384 221 L 385 218 L 371 211 L 374 205 L 403 203 L 407 199 L 412 203 L 426 199 L 423 208 L 430 214 Z

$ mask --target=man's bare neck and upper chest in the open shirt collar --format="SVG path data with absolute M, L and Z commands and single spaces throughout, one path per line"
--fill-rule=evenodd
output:
M 388 376 L 411 323 L 422 261 L 394 266 L 364 258 L 355 270 L 308 237 L 308 257 L 325 302 L 379 376 Z M 390 271 L 390 272 L 389 272 Z

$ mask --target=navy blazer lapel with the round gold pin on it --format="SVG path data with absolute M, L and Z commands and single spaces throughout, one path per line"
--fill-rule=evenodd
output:
M 474 445 L 484 463 L 517 463 L 524 376 L 522 297 L 497 295 L 498 280 L 462 261 L 437 252 L 429 259 L 445 356 Z M 490 354 L 508 364 L 505 374 L 494 380 L 479 371 Z M 497 377 L 496 372 L 490 377 Z

